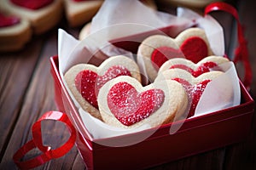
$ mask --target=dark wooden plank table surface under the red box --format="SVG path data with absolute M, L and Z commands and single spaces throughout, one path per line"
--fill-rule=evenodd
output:
M 245 37 L 249 59 L 253 67 L 253 84 L 250 94 L 256 99 L 256 3 L 253 0 L 238 1 L 241 23 L 246 28 Z M 165 9 L 165 8 L 164 8 Z M 235 22 L 231 15 L 222 12 L 212 14 L 224 26 L 226 53 L 230 56 L 236 42 Z M 57 28 L 63 28 L 78 37 L 81 28 L 70 28 L 66 20 L 44 33 L 34 36 L 24 49 L 0 54 L 0 169 L 17 169 L 12 161 L 15 151 L 32 139 L 31 127 L 46 111 L 56 111 L 53 79 L 50 76 L 49 57 L 57 54 Z M 238 72 L 241 65 L 237 65 Z M 200 155 L 189 156 L 152 169 L 256 169 L 256 118 L 253 129 L 245 141 L 230 144 Z M 67 129 L 58 123 L 44 126 L 44 141 L 57 147 L 67 140 Z M 37 150 L 28 154 L 35 156 Z M 84 169 L 84 162 L 74 146 L 67 155 L 49 161 L 36 169 Z

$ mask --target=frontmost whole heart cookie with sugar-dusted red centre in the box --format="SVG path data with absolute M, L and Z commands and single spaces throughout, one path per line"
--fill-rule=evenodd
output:
M 143 87 L 135 78 L 121 76 L 100 89 L 98 104 L 103 121 L 113 127 L 158 127 L 187 111 L 188 96 L 176 81 Z

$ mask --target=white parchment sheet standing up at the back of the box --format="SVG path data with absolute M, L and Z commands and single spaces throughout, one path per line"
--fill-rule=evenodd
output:
M 184 17 L 162 13 L 152 8 L 148 8 L 140 1 L 134 0 L 105 0 L 102 7 L 93 18 L 90 26 L 90 33 L 102 31 L 102 29 L 113 25 L 123 25 L 124 23 L 143 25 L 147 28 L 125 28 L 108 29 L 98 40 L 98 43 L 113 40 L 118 37 L 126 37 L 144 31 L 166 26 L 177 26 L 174 35 L 192 26 L 194 23 Z

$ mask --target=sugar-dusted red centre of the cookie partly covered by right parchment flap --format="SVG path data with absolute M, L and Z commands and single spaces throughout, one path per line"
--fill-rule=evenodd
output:
M 207 88 L 207 83 L 211 82 L 211 80 L 204 80 L 195 85 L 191 85 L 189 82 L 185 81 L 182 78 L 172 78 L 172 80 L 175 80 L 183 84 L 183 87 L 186 89 L 187 94 L 189 94 L 189 99 L 191 100 L 191 106 L 189 109 L 188 117 L 194 116 L 195 108 L 201 98 L 201 94 L 203 94 L 203 92 Z

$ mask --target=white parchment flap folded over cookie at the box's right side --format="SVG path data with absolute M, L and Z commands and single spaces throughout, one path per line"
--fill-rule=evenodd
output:
M 224 74 L 207 84 L 195 109 L 195 116 L 220 111 L 240 104 L 241 89 L 233 62 L 219 65 Z

